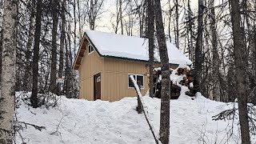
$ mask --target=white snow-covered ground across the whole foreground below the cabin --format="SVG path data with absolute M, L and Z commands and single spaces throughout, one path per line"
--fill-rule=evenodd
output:
M 210 101 L 199 94 L 192 100 L 184 94 L 185 90 L 183 86 L 180 98 L 170 101 L 170 143 L 240 143 L 238 119 L 212 121 L 212 116 L 232 108 L 232 103 Z M 143 100 L 158 136 L 160 99 L 144 96 Z M 21 132 L 29 144 L 154 143 L 146 119 L 137 113 L 136 106 L 137 98 L 90 102 L 62 96 L 58 106 L 49 110 L 46 107 L 32 109 L 22 102 L 18 121 L 46 126 L 42 131 L 27 126 Z M 233 134 L 229 138 L 227 133 L 231 133 L 232 126 Z M 18 136 L 16 140 L 22 143 Z M 252 138 L 252 143 L 255 142 Z

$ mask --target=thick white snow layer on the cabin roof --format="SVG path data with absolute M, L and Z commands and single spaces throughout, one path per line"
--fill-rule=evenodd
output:
M 111 34 L 95 30 L 86 30 L 86 37 L 102 56 L 130 58 L 142 61 L 149 60 L 148 39 L 122 34 Z M 170 42 L 166 42 L 169 62 L 173 64 L 191 65 L 192 62 Z M 160 62 L 159 54 L 154 58 Z

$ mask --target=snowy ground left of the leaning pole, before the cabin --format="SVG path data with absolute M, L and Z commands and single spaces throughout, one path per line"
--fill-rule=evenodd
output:
M 22 132 L 31 144 L 154 143 L 146 119 L 135 110 L 136 104 L 134 98 L 121 102 L 63 98 L 58 108 L 32 110 L 37 115 L 22 105 L 18 117 L 19 121 L 46 126 L 42 132 L 30 126 Z M 60 134 L 51 134 L 61 119 Z

